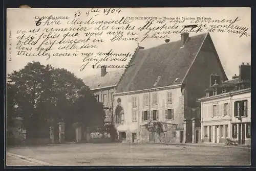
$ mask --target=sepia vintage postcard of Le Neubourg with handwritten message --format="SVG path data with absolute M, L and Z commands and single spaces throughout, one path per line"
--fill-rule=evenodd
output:
M 7 166 L 251 164 L 250 8 L 7 9 Z

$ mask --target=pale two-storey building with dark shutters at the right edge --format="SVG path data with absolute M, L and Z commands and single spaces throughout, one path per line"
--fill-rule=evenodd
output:
M 210 75 L 201 103 L 201 141 L 239 144 L 251 140 L 251 88 L 249 64 L 240 65 L 240 75 L 224 81 L 218 74 Z

